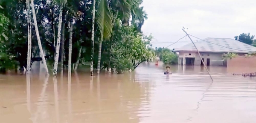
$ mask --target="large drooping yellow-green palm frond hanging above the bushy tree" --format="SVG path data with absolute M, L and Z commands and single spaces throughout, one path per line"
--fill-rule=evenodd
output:
M 104 39 L 108 39 L 111 37 L 113 23 L 112 23 L 113 15 L 108 6 L 107 0 L 99 1 L 99 8 L 96 14 L 96 23 L 99 26 L 99 30 L 101 32 L 101 36 Z

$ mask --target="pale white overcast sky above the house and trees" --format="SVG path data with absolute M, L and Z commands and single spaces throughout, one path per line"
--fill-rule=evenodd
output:
M 177 41 L 185 36 L 183 26 L 201 39 L 234 38 L 248 32 L 256 35 L 255 0 L 143 0 L 142 6 L 148 14 L 142 30 L 152 34 L 154 42 Z M 184 38 L 169 48 L 187 43 L 189 39 Z M 153 47 L 170 44 L 154 43 Z

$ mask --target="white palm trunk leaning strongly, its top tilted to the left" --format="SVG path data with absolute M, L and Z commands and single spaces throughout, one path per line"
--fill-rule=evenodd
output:
M 35 25 L 35 33 L 36 33 L 36 37 L 38 39 L 38 47 L 40 50 L 40 56 L 42 57 L 42 60 L 43 60 L 43 63 L 44 63 L 45 69 L 46 69 L 46 74 L 49 75 L 48 67 L 46 64 L 45 57 L 44 57 L 43 47 L 42 47 L 40 36 L 39 36 L 39 31 L 38 31 L 38 26 L 37 26 L 37 21 L 36 21 L 36 16 L 35 16 L 34 0 L 31 0 L 31 6 L 32 6 L 32 14 L 33 14 L 33 20 L 34 20 L 34 25 Z

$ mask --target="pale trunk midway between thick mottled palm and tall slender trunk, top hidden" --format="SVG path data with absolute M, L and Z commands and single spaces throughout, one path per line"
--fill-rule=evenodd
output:
M 68 77 L 71 76 L 71 58 L 72 58 L 72 35 L 73 35 L 73 21 L 69 23 L 70 26 L 70 40 L 69 40 L 69 48 L 68 48 Z

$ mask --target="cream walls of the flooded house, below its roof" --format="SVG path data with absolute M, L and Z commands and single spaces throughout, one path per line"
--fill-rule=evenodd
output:
M 191 55 L 189 55 L 191 54 Z M 204 63 L 207 65 L 207 58 L 210 59 L 210 66 L 223 66 L 222 53 L 200 53 L 204 58 Z M 180 52 L 179 57 L 195 57 L 195 66 L 201 65 L 201 59 L 197 52 Z

